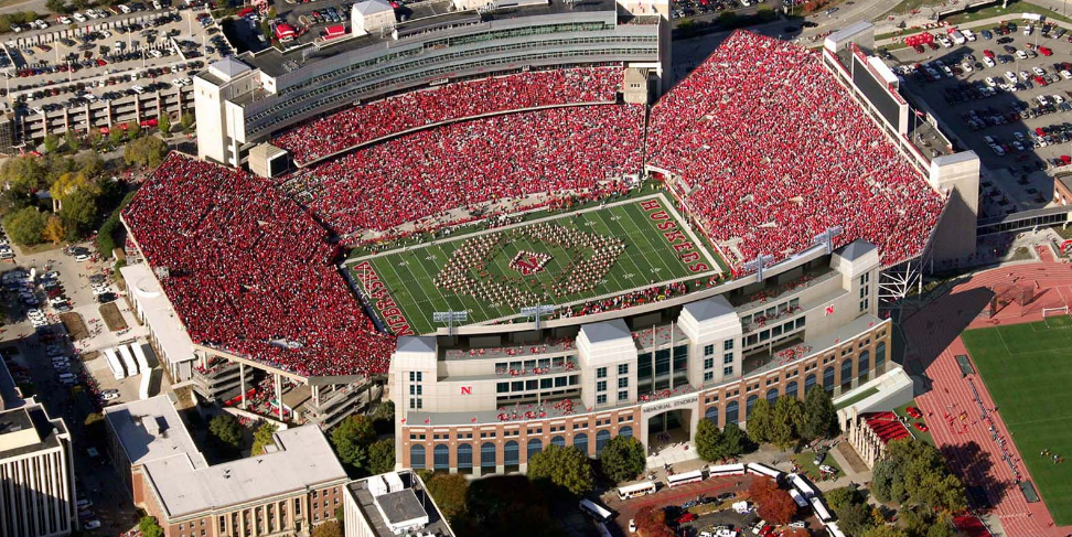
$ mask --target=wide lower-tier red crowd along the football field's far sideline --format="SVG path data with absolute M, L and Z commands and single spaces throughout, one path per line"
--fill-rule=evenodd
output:
M 621 192 L 622 175 L 641 168 L 643 120 L 640 105 L 480 118 L 369 146 L 281 181 L 321 222 L 357 243 L 355 234 L 366 229 L 487 202 Z

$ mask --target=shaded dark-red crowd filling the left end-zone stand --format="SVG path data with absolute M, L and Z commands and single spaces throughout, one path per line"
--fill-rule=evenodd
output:
M 269 181 L 172 153 L 124 219 L 194 343 L 299 375 L 387 370 L 337 248 Z

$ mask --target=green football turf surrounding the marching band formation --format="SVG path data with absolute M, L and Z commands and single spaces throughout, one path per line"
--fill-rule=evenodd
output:
M 685 233 L 685 241 L 693 245 L 690 250 L 678 253 L 664 236 L 674 230 L 686 232 L 686 228 L 674 216 L 668 221 L 652 219 L 650 215 L 658 211 L 642 206 L 645 202 L 657 202 L 663 210 L 671 208 L 671 204 L 662 194 L 630 200 L 619 204 L 608 204 L 586 212 L 560 214 L 538 221 L 567 229 L 577 229 L 597 237 L 599 240 L 621 241 L 624 250 L 618 255 L 610 270 L 592 289 L 580 292 L 556 290 L 556 281 L 573 281 L 569 278 L 567 267 L 581 262 L 591 255 L 591 249 L 583 247 L 567 248 L 550 241 L 527 236 L 527 230 L 535 229 L 536 223 L 524 225 L 510 230 L 493 230 L 489 238 L 496 240 L 496 245 L 483 257 L 485 264 L 480 269 L 465 269 L 465 273 L 481 282 L 492 282 L 517 289 L 538 298 L 535 302 L 558 305 L 581 303 L 596 297 L 620 294 L 633 289 L 647 288 L 653 283 L 665 283 L 675 280 L 699 280 L 720 271 L 721 260 L 717 254 L 708 249 L 703 239 Z M 673 223 L 673 227 L 671 226 Z M 656 227 L 662 225 L 664 228 Z M 449 238 L 420 246 L 396 249 L 375 257 L 360 257 L 347 261 L 354 280 L 366 294 L 371 293 L 369 276 L 365 267 L 372 265 L 376 278 L 383 282 L 390 300 L 397 304 L 406 325 L 414 333 L 425 334 L 441 326 L 432 322 L 432 312 L 460 311 L 469 312 L 468 323 L 478 323 L 517 314 L 517 307 L 506 303 L 493 303 L 492 300 L 481 299 L 464 292 L 436 284 L 437 276 L 447 266 L 452 255 L 476 235 L 469 233 L 461 235 L 454 232 Z M 678 245 L 682 240 L 677 241 Z M 523 276 L 511 268 L 511 261 L 519 251 L 534 251 L 550 255 L 550 259 L 542 271 Z M 682 255 L 689 251 L 699 255 L 698 261 L 686 262 Z M 710 256 L 710 257 L 709 257 Z M 716 260 L 715 264 L 710 259 Z M 697 267 L 703 262 L 704 267 Z M 697 268 L 697 271 L 690 269 Z M 508 278 L 504 280 L 503 278 Z M 373 301 L 380 318 L 388 316 L 390 303 L 384 308 L 380 301 Z M 385 311 L 387 314 L 385 315 Z M 397 313 L 397 312 L 396 312 Z M 397 319 L 397 316 L 396 316 Z M 388 323 L 390 324 L 390 323 Z

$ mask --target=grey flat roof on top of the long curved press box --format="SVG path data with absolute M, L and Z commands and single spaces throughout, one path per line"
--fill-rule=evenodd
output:
M 401 17 L 403 14 L 407 17 L 405 21 L 398 22 L 396 25 L 396 30 L 398 31 L 397 41 L 390 32 L 384 34 L 372 33 L 356 37 L 337 39 L 334 44 L 322 46 L 318 50 L 312 43 L 312 40 L 315 37 L 315 32 L 310 32 L 302 39 L 299 39 L 296 42 L 298 43 L 296 46 L 287 51 L 269 47 L 256 54 L 245 53 L 238 57 L 243 62 L 260 68 L 268 76 L 277 77 L 296 71 L 308 63 L 328 60 L 366 46 L 389 42 L 398 43 L 412 35 L 420 35 L 422 40 L 427 40 L 429 32 L 438 32 L 451 28 L 522 17 L 615 10 L 614 0 L 582 0 L 569 3 L 564 0 L 550 0 L 547 3 L 524 7 L 515 6 L 478 13 L 474 10 L 453 11 L 450 0 L 433 0 L 407 4 L 395 10 L 396 17 Z M 350 13 L 346 13 L 346 15 L 349 18 Z

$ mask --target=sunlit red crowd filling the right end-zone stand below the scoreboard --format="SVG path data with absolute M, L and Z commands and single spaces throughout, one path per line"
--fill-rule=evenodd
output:
M 652 109 L 648 163 L 683 181 L 685 204 L 735 265 L 801 251 L 844 226 L 882 262 L 918 255 L 944 200 L 819 57 L 738 31 Z M 693 191 L 695 189 L 695 191 Z

